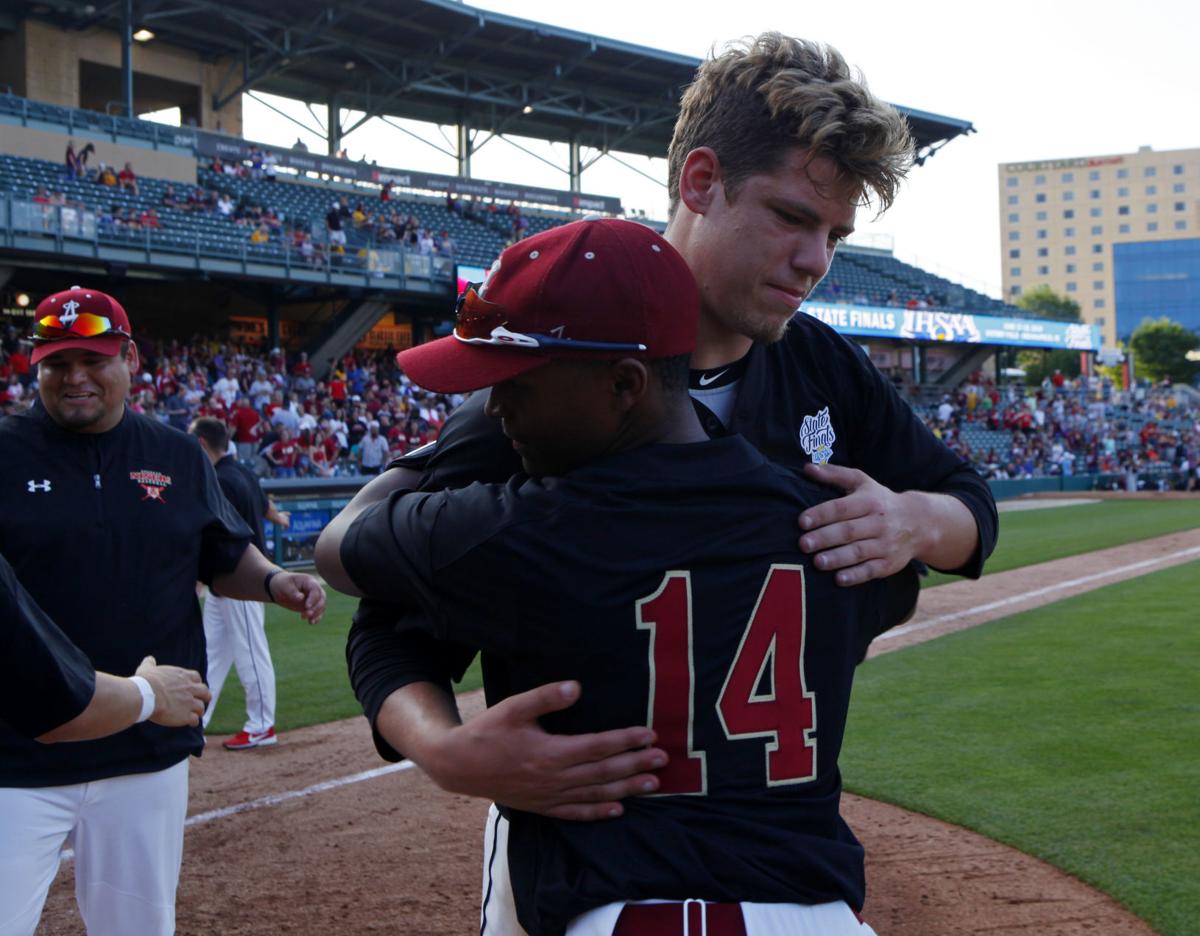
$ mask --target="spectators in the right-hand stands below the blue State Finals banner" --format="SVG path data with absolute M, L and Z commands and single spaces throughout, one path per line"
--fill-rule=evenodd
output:
M 1108 377 L 1055 372 L 1040 386 L 997 388 L 976 374 L 924 418 L 989 479 L 1090 474 L 1122 490 L 1196 490 L 1200 407 L 1187 401 L 1169 382 L 1121 390 Z

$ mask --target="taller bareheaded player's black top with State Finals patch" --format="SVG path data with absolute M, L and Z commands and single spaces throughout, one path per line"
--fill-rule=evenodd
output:
M 499 421 L 484 413 L 486 401 L 486 390 L 472 396 L 450 415 L 436 443 L 389 467 L 420 473 L 421 491 L 505 481 L 520 473 L 521 461 Z M 718 428 L 712 422 L 704 420 L 706 428 Z M 996 502 L 988 482 L 929 431 L 857 344 L 811 316 L 796 316 L 781 341 L 751 348 L 728 430 L 773 463 L 796 472 L 810 461 L 828 461 L 859 468 L 893 491 L 959 498 L 976 518 L 979 547 L 966 565 L 948 571 L 978 577 L 996 546 Z M 889 578 L 888 587 L 892 613 L 878 630 L 911 608 L 916 575 L 905 570 Z M 395 617 L 392 608 L 364 601 L 347 647 L 350 679 L 372 725 L 392 691 L 415 682 L 449 686 L 478 649 L 451 642 L 439 646 L 418 631 L 397 634 L 391 626 Z M 860 635 L 859 655 L 872 636 Z M 484 671 L 488 678 L 502 677 L 486 655 Z M 385 757 L 398 757 L 378 736 L 376 742 Z

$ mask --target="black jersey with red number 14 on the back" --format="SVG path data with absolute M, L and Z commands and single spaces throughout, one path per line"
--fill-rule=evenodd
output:
M 578 679 L 557 733 L 648 724 L 661 794 L 600 823 L 508 810 L 518 916 L 560 934 L 616 900 L 863 904 L 838 805 L 856 632 L 883 588 L 838 588 L 796 551 L 829 493 L 738 437 L 622 452 L 564 478 L 397 493 L 341 558 L 373 598 L 504 667 L 488 702 Z

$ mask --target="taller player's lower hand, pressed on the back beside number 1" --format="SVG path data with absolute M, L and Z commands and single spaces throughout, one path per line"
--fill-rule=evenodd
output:
M 652 793 L 649 770 L 667 755 L 650 748 L 650 728 L 594 734 L 551 734 L 538 719 L 569 708 L 578 683 L 551 683 L 511 696 L 449 731 L 438 756 L 422 764 L 444 790 L 487 797 L 506 806 L 560 820 L 614 818 L 625 797 Z

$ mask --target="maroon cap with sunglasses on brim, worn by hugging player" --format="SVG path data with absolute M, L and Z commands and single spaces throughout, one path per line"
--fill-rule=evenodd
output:
M 557 359 L 690 354 L 700 293 L 654 230 L 600 218 L 509 247 L 457 312 L 452 335 L 396 355 L 418 386 L 466 392 Z

